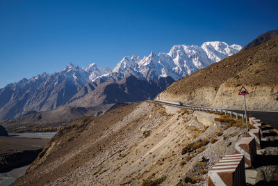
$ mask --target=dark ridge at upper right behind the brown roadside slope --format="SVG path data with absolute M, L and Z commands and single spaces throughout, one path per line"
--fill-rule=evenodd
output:
M 244 51 L 247 49 L 252 49 L 253 47 L 261 45 L 263 42 L 267 42 L 268 40 L 271 40 L 272 38 L 275 38 L 276 36 L 278 36 L 278 30 L 265 32 L 265 33 L 261 34 L 260 36 L 258 36 L 258 38 L 254 39 L 252 42 L 250 42 L 248 45 L 243 47 L 242 50 Z

